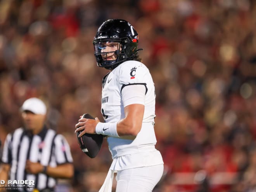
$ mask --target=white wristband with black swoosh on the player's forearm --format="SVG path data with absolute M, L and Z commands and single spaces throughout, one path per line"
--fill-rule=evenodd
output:
M 101 123 L 99 122 L 96 125 L 95 132 L 97 134 L 102 135 L 109 135 L 112 137 L 119 137 L 117 130 L 116 130 L 117 122 L 116 123 Z

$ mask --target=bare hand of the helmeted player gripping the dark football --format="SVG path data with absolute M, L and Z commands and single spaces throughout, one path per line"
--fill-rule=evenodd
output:
M 98 118 L 94 119 L 86 119 L 86 118 L 80 118 L 78 123 L 76 124 L 76 132 L 82 131 L 78 137 L 81 137 L 85 133 L 90 133 L 90 134 L 96 134 L 95 133 L 95 128 L 96 125 L 100 122 Z

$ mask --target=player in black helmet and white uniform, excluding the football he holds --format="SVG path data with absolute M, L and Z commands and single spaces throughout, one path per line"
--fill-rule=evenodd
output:
M 163 175 L 163 159 L 155 148 L 154 82 L 138 56 L 138 33 L 125 20 L 109 19 L 93 45 L 97 65 L 110 70 L 102 80 L 105 121 L 81 118 L 76 132 L 107 136 L 113 161 L 99 192 L 111 192 L 115 172 L 116 192 L 152 192 Z

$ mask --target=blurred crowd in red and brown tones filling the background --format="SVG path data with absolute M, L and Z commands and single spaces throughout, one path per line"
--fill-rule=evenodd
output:
M 112 161 L 106 140 L 90 159 L 74 125 L 86 112 L 103 120 L 108 71 L 92 40 L 114 18 L 137 30 L 156 87 L 165 172 L 154 192 L 256 192 L 254 0 L 2 0 L 0 140 L 22 125 L 24 100 L 39 97 L 74 158 L 74 179 L 57 190 L 97 192 Z

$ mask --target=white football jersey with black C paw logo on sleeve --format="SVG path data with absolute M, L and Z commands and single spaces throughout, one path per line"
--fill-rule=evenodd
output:
M 114 123 L 125 118 L 122 90 L 125 86 L 142 85 L 145 86 L 145 110 L 142 121 L 142 128 L 137 137 L 107 137 L 109 150 L 112 158 L 118 159 L 126 155 L 150 152 L 148 162 L 140 162 L 141 156 L 129 158 L 125 165 L 112 163 L 111 169 L 120 170 L 139 166 L 152 166 L 163 163 L 161 154 L 155 149 L 156 136 L 154 132 L 155 118 L 155 88 L 149 69 L 138 61 L 126 61 L 108 73 L 102 80 L 102 105 L 101 112 L 106 123 Z M 136 104 L 137 102 L 130 104 Z M 155 160 L 154 160 L 155 159 Z

